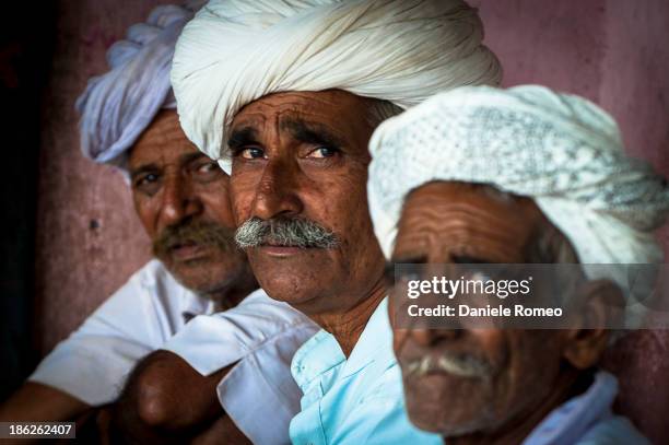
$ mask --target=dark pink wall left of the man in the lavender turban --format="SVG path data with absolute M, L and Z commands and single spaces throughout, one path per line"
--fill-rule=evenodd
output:
M 74 101 L 90 77 L 106 70 L 106 48 L 159 3 L 59 2 L 37 210 L 36 307 L 43 352 L 67 337 L 149 258 L 149 243 L 124 178 L 79 151 Z

